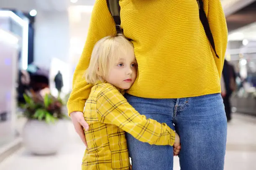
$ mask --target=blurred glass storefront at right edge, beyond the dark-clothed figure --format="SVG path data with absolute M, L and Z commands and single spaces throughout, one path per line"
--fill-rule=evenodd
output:
M 256 52 L 230 55 L 230 59 L 237 83 L 231 98 L 233 111 L 256 115 Z

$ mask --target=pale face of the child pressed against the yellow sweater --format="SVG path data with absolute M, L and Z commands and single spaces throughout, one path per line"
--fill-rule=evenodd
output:
M 128 89 L 136 79 L 137 62 L 134 54 L 126 54 L 110 65 L 105 80 L 120 89 Z

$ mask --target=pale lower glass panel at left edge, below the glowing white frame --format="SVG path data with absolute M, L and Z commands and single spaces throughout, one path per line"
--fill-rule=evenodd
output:
M 15 137 L 18 40 L 0 28 L 0 146 Z

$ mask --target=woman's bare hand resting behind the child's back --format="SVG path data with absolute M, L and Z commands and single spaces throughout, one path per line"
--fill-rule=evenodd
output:
M 82 139 L 84 145 L 87 147 L 84 130 L 87 131 L 89 129 L 89 125 L 84 120 L 84 114 L 82 112 L 72 112 L 70 113 L 70 117 L 76 132 Z

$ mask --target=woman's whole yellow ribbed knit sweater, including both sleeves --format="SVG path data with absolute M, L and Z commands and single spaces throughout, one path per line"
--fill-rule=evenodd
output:
M 200 22 L 196 0 L 120 0 L 121 27 L 132 39 L 138 76 L 128 93 L 181 98 L 220 92 L 227 26 L 220 0 L 203 0 L 218 59 Z M 82 56 L 74 72 L 68 111 L 82 111 L 92 85 L 84 80 L 93 46 L 115 34 L 106 0 L 96 0 Z

